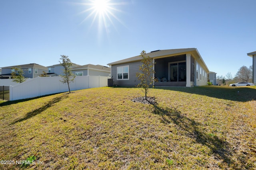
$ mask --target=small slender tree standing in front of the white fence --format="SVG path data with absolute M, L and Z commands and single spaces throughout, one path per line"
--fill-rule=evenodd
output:
M 69 88 L 69 83 L 70 82 L 74 82 L 74 79 L 76 77 L 76 75 L 74 75 L 71 71 L 71 66 L 72 63 L 70 61 L 70 59 L 68 58 L 68 56 L 66 55 L 60 55 L 61 56 L 61 60 L 62 62 L 60 62 L 60 64 L 64 67 L 63 69 L 63 74 L 64 75 L 60 75 L 62 77 L 62 80 L 60 80 L 60 82 L 64 83 L 68 83 L 68 91 L 70 93 L 70 88 Z

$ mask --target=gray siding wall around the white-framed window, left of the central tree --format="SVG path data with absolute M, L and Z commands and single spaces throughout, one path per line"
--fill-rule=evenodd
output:
M 117 67 L 118 66 L 129 66 L 129 80 L 117 80 Z M 114 84 L 118 86 L 135 86 L 140 81 L 136 77 L 136 72 L 139 72 L 139 66 L 141 66 L 141 61 L 134 61 L 131 63 L 123 63 L 112 65 L 112 78 L 114 79 Z

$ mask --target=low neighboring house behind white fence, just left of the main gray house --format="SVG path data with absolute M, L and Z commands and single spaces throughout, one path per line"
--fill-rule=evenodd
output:
M 86 64 L 72 68 L 76 76 L 110 76 L 110 67 Z

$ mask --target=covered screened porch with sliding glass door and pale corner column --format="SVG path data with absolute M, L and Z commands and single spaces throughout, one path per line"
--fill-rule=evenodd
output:
M 190 54 L 154 58 L 155 86 L 194 86 L 194 58 Z

